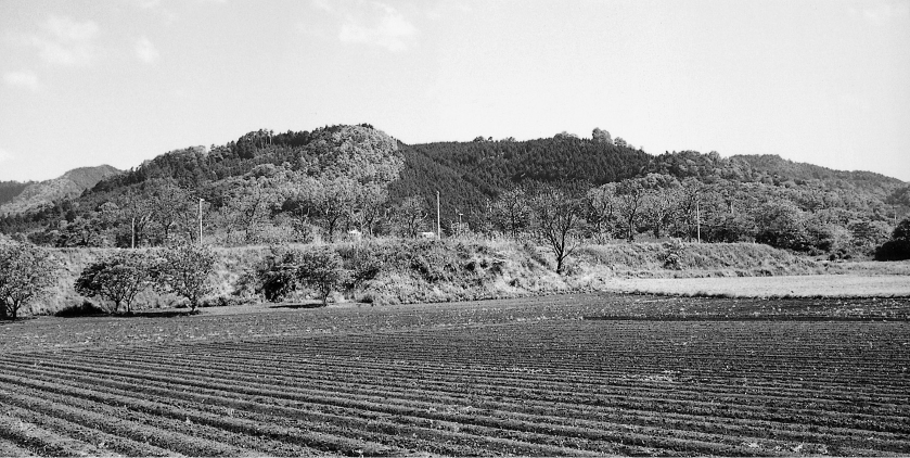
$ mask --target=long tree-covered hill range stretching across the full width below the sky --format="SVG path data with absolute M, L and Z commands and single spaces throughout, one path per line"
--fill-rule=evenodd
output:
M 910 187 L 879 174 L 831 170 L 779 156 L 650 155 L 600 129 L 590 138 L 563 132 L 526 141 L 478 137 L 410 145 L 366 124 L 257 130 L 222 145 L 171 151 L 124 173 L 101 170 L 105 178 L 85 192 L 99 178 L 84 171 L 67 174 L 51 187 L 66 191 L 72 185 L 73 190 L 22 207 L 29 212 L 0 217 L 0 232 L 56 246 L 130 246 L 134 232 L 138 245 L 154 246 L 197 238 L 202 199 L 205 232 L 225 244 L 304 241 L 313 234 L 331 239 L 351 228 L 413 237 L 431 229 L 431 221 L 435 226 L 439 192 L 443 229 L 454 231 L 463 220 L 459 231 L 492 233 L 502 230 L 496 229 L 502 221 L 495 219 L 503 202 L 539 189 L 516 188 L 574 182 L 573 189 L 589 191 L 585 212 L 615 211 L 612 216 L 584 215 L 610 237 L 631 238 L 645 230 L 655 237 L 691 237 L 687 208 L 692 205 L 680 205 L 697 198 L 704 201 L 703 219 L 712 216 L 704 215 L 708 205 L 717 208 L 712 232 L 705 232 L 710 240 L 759 240 L 764 228 L 789 220 L 804 229 L 836 230 L 825 232 L 826 239 L 816 234 L 806 243 L 798 239 L 802 244 L 772 244 L 832 251 L 829 239 L 869 232 L 869 225 L 884 234 L 910 208 Z M 0 196 L 50 195 L 29 189 L 39 188 L 0 183 L 5 193 Z M 619 222 L 610 219 L 627 201 L 636 203 L 636 212 Z

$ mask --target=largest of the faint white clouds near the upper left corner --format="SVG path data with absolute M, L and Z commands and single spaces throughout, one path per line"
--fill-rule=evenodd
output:
M 38 49 L 38 55 L 51 65 L 87 65 L 94 59 L 98 25 L 79 23 L 68 17 L 51 16 L 41 24 L 41 33 L 25 41 Z

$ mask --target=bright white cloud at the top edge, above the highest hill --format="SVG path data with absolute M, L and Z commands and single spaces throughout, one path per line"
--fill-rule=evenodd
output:
M 416 37 L 416 27 L 387 4 L 373 2 L 369 7 L 367 18 L 346 16 L 338 38 L 343 42 L 377 46 L 393 52 L 408 49 Z

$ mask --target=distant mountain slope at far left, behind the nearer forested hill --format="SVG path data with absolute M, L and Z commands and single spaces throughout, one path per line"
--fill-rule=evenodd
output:
M 0 205 L 0 215 L 17 215 L 33 212 L 54 202 L 75 199 L 88 189 L 93 188 L 99 181 L 119 174 L 120 170 L 110 166 L 74 168 L 60 178 L 33 183 L 20 183 L 23 188 L 8 202 Z M 0 187 L 0 190 L 9 188 L 15 190 L 15 186 Z

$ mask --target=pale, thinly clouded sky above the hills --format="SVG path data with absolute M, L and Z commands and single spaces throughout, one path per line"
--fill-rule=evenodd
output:
M 0 0 L 0 180 L 370 123 L 910 181 L 910 0 Z

